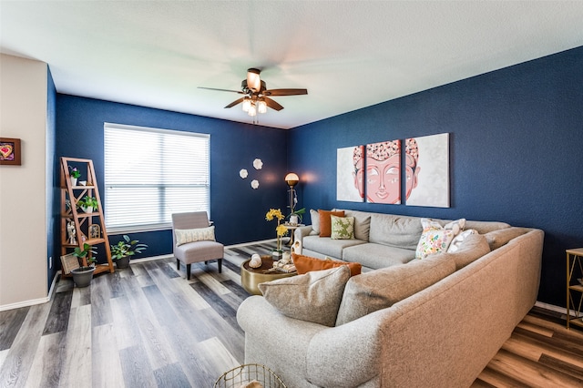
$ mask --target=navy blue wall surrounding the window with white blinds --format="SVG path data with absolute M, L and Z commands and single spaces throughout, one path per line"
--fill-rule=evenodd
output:
M 210 134 L 210 219 L 217 240 L 230 245 L 275 237 L 265 213 L 286 204 L 284 130 L 62 94 L 56 95 L 56 108 L 56 155 L 92 159 L 102 199 L 105 122 Z M 261 170 L 253 168 L 255 158 L 263 161 Z M 240 179 L 241 168 L 249 178 Z M 260 181 L 259 189 L 251 189 L 252 179 Z M 170 230 L 130 237 L 148 244 L 142 256 L 172 252 Z M 110 242 L 117 240 L 112 236 Z

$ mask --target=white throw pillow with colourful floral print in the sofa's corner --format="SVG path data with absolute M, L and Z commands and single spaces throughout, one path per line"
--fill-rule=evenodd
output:
M 415 259 L 424 259 L 427 256 L 446 251 L 455 236 L 464 230 L 465 219 L 449 222 L 445 226 L 435 220 L 421 219 L 423 233 L 417 244 Z

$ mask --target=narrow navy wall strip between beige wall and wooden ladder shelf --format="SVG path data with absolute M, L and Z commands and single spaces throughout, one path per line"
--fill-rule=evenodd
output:
M 55 249 L 58 244 L 58 184 L 55 177 L 58 176 L 58 162 L 56 158 L 56 87 L 53 75 L 46 66 L 46 213 L 52 217 L 46 218 L 46 269 L 47 288 L 50 290 L 53 278 L 60 266 L 60 252 Z M 51 268 L 49 258 L 53 258 Z

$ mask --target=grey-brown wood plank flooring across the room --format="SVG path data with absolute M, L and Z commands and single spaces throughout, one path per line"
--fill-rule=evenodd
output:
M 133 262 L 84 289 L 0 312 L 0 387 L 212 387 L 244 359 L 240 263 L 272 244 L 228 248 L 217 264 Z M 581 387 L 583 332 L 533 309 L 472 387 Z M 293 387 L 290 387 L 293 388 Z

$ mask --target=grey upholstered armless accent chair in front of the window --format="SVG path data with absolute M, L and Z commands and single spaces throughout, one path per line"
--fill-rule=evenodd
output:
M 172 250 L 176 258 L 177 269 L 180 270 L 180 261 L 186 264 L 186 278 L 190 280 L 190 264 L 210 260 L 217 260 L 219 273 L 222 271 L 222 259 L 225 247 L 217 241 L 194 241 L 176 246 L 176 233 L 174 230 L 208 228 L 209 216 L 206 211 L 192 211 L 188 213 L 172 214 Z

